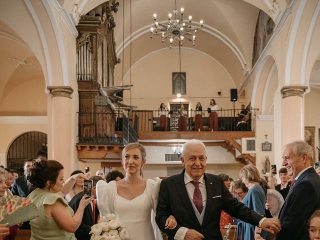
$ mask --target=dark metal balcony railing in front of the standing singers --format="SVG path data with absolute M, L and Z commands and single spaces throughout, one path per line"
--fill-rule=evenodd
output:
M 214 114 L 207 110 L 134 110 L 132 115 L 138 116 L 138 131 L 251 131 L 251 118 L 256 110 L 222 109 Z M 181 115 L 184 120 L 179 120 Z M 212 126 L 213 119 L 216 125 Z

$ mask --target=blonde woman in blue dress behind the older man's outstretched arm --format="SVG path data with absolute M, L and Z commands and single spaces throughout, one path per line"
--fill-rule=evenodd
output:
M 242 182 L 249 189 L 247 194 L 242 200 L 242 203 L 251 208 L 258 214 L 265 216 L 265 192 L 260 186 L 260 174 L 258 169 L 251 164 L 245 165 L 240 170 L 240 177 Z M 239 221 L 237 230 L 237 239 L 241 236 L 241 239 L 254 239 L 254 235 L 259 235 L 264 239 L 269 239 L 268 233 L 263 231 L 260 227 Z

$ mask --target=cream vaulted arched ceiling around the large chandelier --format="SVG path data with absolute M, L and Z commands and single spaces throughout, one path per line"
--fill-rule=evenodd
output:
M 85 5 L 79 1 L 78 6 L 81 6 L 82 14 L 94 8 L 94 2 L 98 5 L 103 1 L 90 0 Z M 157 14 L 157 21 L 166 22 L 167 14 L 172 12 L 174 4 L 174 0 L 119 0 L 118 11 L 113 13 L 116 24 L 114 37 L 117 56 L 121 61 L 124 38 L 124 74 L 130 67 L 130 54 L 131 65 L 134 65 L 150 52 L 169 46 L 168 39 L 164 43 L 161 43 L 159 36 L 150 39 L 149 28 L 154 23 L 153 13 Z M 176 8 L 184 8 L 185 18 L 192 15 L 194 25 L 198 26 L 200 20 L 204 21 L 203 29 L 197 33 L 195 46 L 190 42 L 184 42 L 182 52 L 183 47 L 193 47 L 215 58 L 228 71 L 236 87 L 239 88 L 245 79 L 246 71 L 251 68 L 259 9 L 276 21 L 286 4 L 285 0 L 176 0 Z M 177 42 L 173 46 L 177 46 Z M 117 64 L 115 70 L 117 76 L 121 75 L 122 65 Z

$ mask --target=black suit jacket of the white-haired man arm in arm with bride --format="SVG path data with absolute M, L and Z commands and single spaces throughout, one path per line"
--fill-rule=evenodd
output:
M 247 208 L 232 197 L 221 177 L 204 173 L 206 187 L 206 206 L 202 224 L 196 218 L 184 184 L 184 170 L 161 181 L 155 220 L 159 228 L 173 239 L 181 227 L 195 229 L 204 235 L 204 240 L 222 239 L 219 229 L 221 210 L 243 221 L 258 225 L 262 216 Z M 165 220 L 173 215 L 177 226 L 164 229 Z

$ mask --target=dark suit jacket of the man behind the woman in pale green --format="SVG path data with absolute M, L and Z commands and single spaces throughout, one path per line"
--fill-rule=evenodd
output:
M 82 191 L 80 191 L 79 193 L 75 194 L 72 199 L 69 202 L 69 206 L 73 209 L 74 212 L 76 212 L 76 210 L 79 207 L 79 202 L 82 198 Z M 99 209 L 97 206 L 95 206 L 95 211 L 94 211 L 94 218 L 95 218 L 95 223 L 97 222 L 98 219 L 98 214 L 99 214 Z M 86 207 L 84 208 L 83 211 L 83 216 L 82 216 L 82 220 L 81 223 L 78 227 L 78 229 L 76 229 L 76 231 L 74 232 L 74 235 L 76 237 L 77 240 L 89 240 L 91 237 L 91 234 L 89 234 L 89 231 L 91 230 L 91 226 L 93 225 L 93 214 L 92 214 L 92 208 L 91 208 L 91 204 L 87 204 Z

